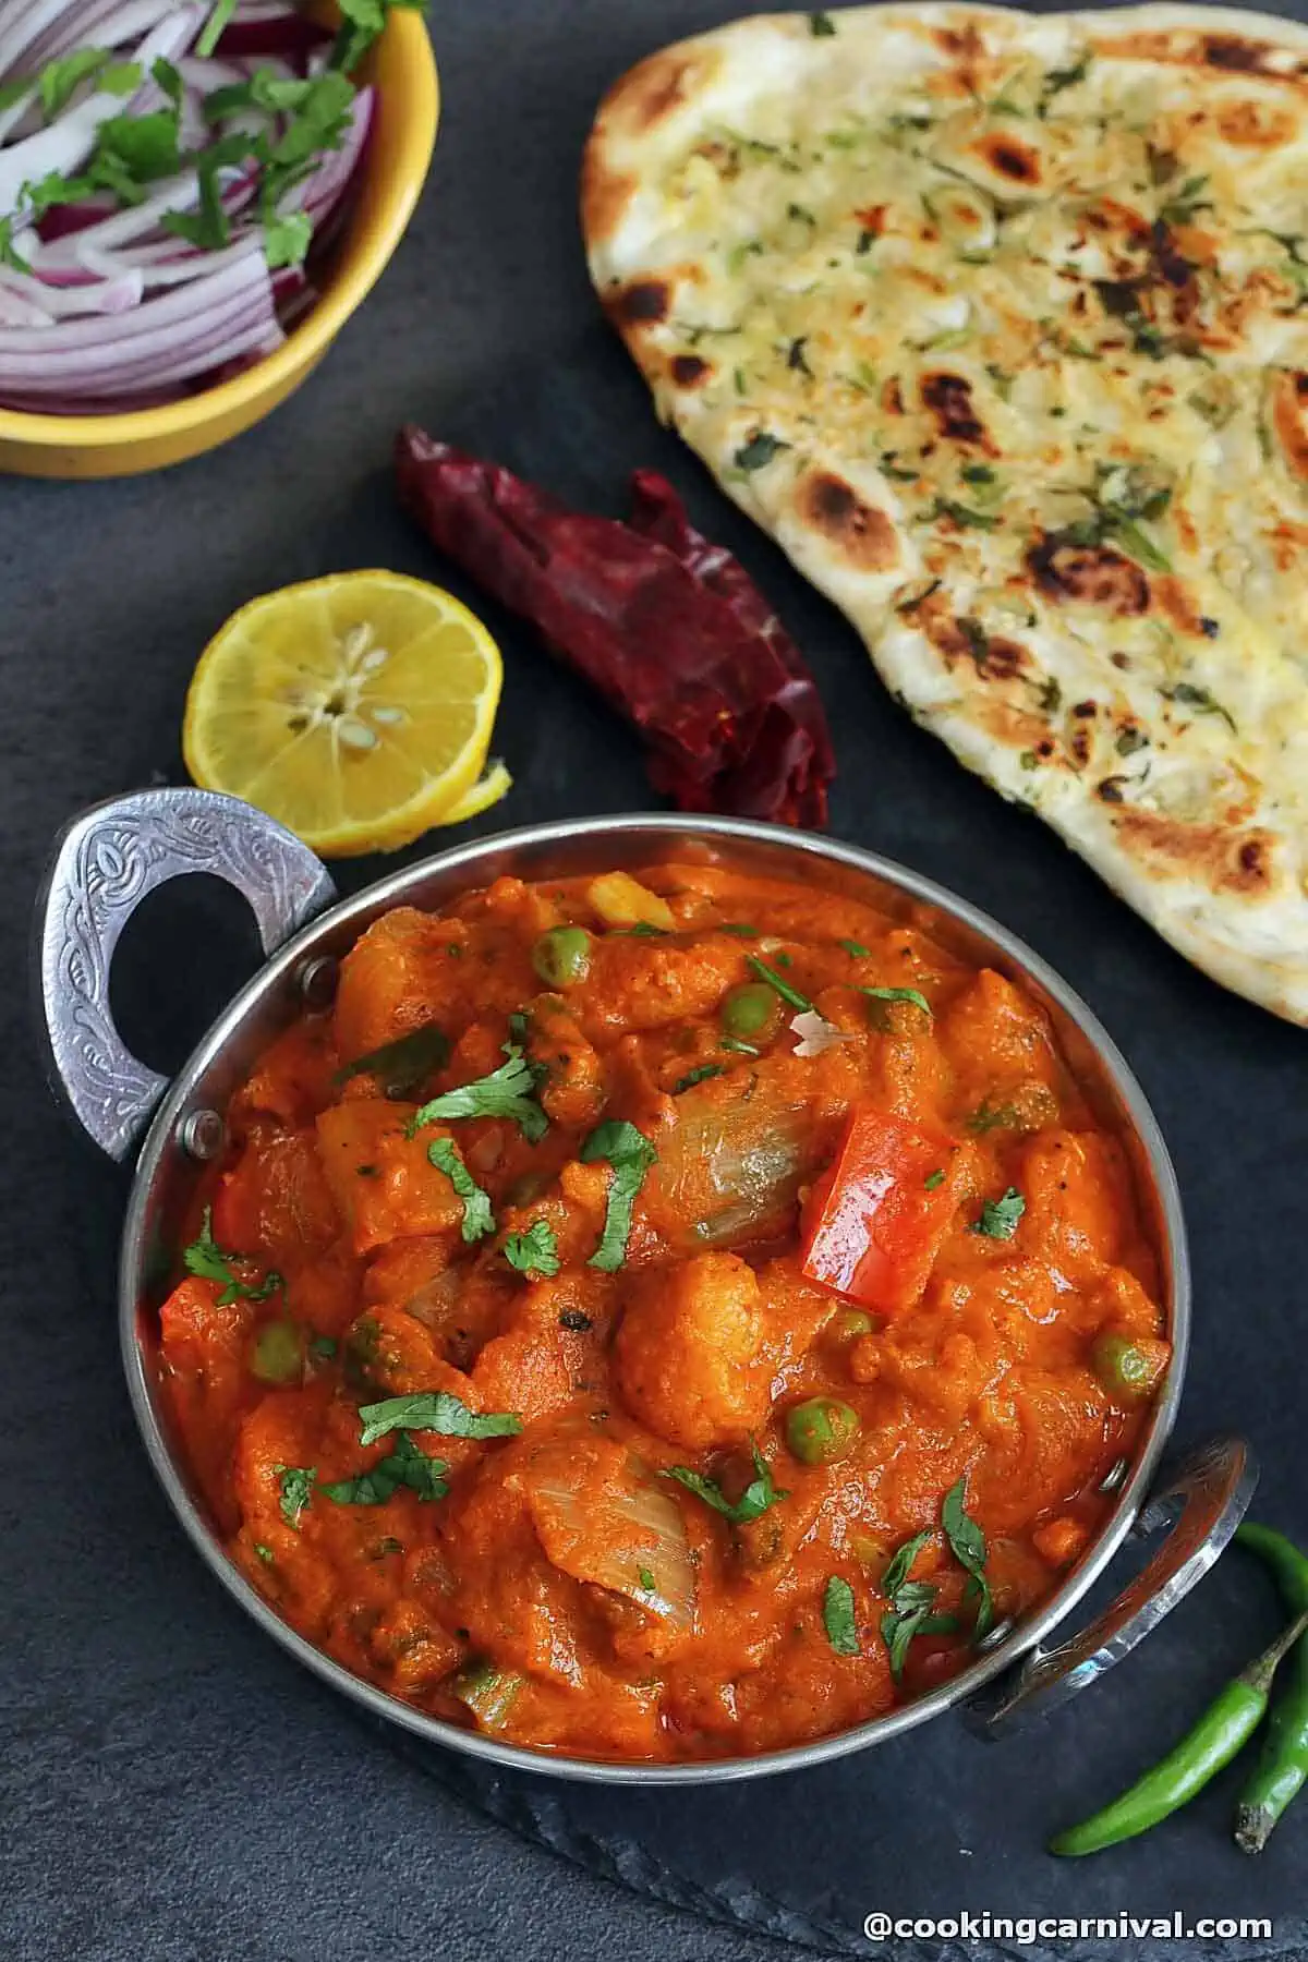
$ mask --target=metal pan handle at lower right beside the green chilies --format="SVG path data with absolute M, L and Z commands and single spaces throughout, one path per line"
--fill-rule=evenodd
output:
M 1139 1536 L 1171 1528 L 1149 1566 L 1081 1634 L 1057 1648 L 1033 1648 L 979 1691 L 965 1711 L 967 1727 L 986 1738 L 1010 1736 L 1122 1662 L 1210 1570 L 1243 1519 L 1257 1477 L 1243 1438 L 1212 1438 L 1165 1464 L 1132 1528 Z

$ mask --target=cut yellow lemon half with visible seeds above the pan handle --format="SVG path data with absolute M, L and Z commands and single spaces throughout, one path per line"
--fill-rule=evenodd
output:
M 186 769 L 324 857 L 394 852 L 508 789 L 494 771 L 480 779 L 502 679 L 480 620 L 422 579 L 337 573 L 282 587 L 200 655 Z

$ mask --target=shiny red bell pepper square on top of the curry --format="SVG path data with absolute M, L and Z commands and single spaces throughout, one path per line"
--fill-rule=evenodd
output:
M 808 1279 L 879 1315 L 912 1309 L 959 1205 L 955 1158 L 941 1132 L 888 1110 L 853 1110 L 808 1201 Z

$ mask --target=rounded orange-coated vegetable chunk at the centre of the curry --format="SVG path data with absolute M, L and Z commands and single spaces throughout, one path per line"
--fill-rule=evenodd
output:
M 771 1387 L 761 1303 L 737 1254 L 698 1254 L 639 1275 L 614 1344 L 631 1415 L 688 1450 L 755 1430 Z

